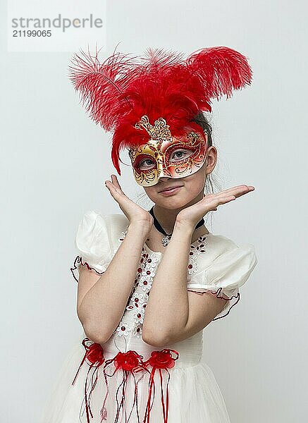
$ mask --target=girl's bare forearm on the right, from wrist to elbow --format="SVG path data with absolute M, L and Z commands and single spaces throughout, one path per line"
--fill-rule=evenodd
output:
M 144 339 L 168 340 L 170 333 L 178 333 L 187 323 L 187 265 L 192 233 L 190 226 L 175 222 L 147 301 Z

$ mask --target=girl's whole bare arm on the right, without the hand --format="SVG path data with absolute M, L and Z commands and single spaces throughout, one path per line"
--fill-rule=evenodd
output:
M 193 229 L 176 222 L 156 271 L 144 314 L 142 338 L 161 347 L 202 330 L 221 312 L 226 300 L 211 293 L 187 292 L 187 264 Z

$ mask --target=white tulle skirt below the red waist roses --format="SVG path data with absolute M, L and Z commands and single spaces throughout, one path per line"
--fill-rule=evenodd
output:
M 91 412 L 85 410 L 85 379 L 89 365 L 80 368 L 72 385 L 85 350 L 81 342 L 75 345 L 64 360 L 54 386 L 47 395 L 42 410 L 42 423 L 230 423 L 223 396 L 211 368 L 199 362 L 190 367 L 169 369 L 170 379 L 161 382 L 159 372 L 154 374 L 155 393 L 151 400 L 150 417 L 144 420 L 148 404 L 149 377 L 130 373 L 125 384 L 125 407 L 118 413 L 123 393 L 121 369 L 108 378 L 109 396 L 106 400 L 106 418 L 101 420 L 101 407 L 106 396 L 106 381 L 98 377 L 91 395 Z M 168 415 L 166 416 L 166 381 L 168 380 Z M 122 383 L 122 385 L 121 385 Z M 137 403 L 135 388 L 137 384 Z M 119 388 L 120 386 L 120 388 Z M 165 419 L 161 402 L 164 392 Z M 116 392 L 118 394 L 116 395 Z M 118 403 L 116 398 L 118 398 Z M 134 404 L 135 401 L 135 404 Z M 138 417 L 139 415 L 139 417 Z M 167 417 L 167 419 L 166 419 Z

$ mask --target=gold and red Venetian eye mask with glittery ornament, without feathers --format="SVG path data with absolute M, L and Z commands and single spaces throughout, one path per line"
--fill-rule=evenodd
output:
M 173 137 L 164 118 L 159 118 L 152 126 L 146 115 L 135 124 L 135 128 L 144 128 L 151 137 L 147 144 L 130 147 L 128 152 L 134 178 L 139 185 L 156 185 L 164 176 L 185 178 L 203 166 L 207 133 L 187 130 L 182 137 Z M 178 153 L 184 154 L 183 157 L 175 157 Z

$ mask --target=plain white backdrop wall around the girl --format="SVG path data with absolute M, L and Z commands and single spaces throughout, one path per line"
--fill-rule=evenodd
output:
M 39 423 L 82 329 L 70 274 L 78 223 L 87 209 L 121 210 L 104 187 L 116 173 L 111 134 L 68 81 L 73 51 L 8 53 L 1 16 L 1 422 Z M 214 102 L 212 116 L 223 189 L 255 187 L 208 226 L 254 244 L 259 259 L 238 305 L 204 329 L 204 361 L 233 423 L 307 418 L 306 16 L 304 1 L 107 5 L 107 54 L 118 42 L 133 54 L 224 45 L 252 66 L 251 87 Z M 142 192 L 129 166 L 119 180 L 134 199 Z

